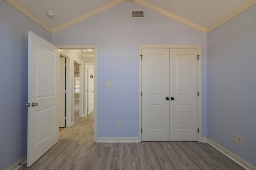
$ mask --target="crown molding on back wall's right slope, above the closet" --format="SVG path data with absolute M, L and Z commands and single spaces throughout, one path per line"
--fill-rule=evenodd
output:
M 150 3 L 146 2 L 145 0 L 133 0 L 133 2 L 136 2 L 137 4 L 140 4 L 140 5 L 144 6 L 144 7 L 149 8 L 149 9 L 155 11 L 155 12 L 158 12 L 158 13 L 164 15 L 164 16 L 172 18 L 173 20 L 179 21 L 180 23 L 188 25 L 188 26 L 190 26 L 190 27 L 192 27 L 192 28 L 194 28 L 194 29 L 196 29 L 198 31 L 201 31 L 203 33 L 207 33 L 207 28 L 202 27 L 201 25 L 198 25 L 198 24 L 196 24 L 196 23 L 194 23 L 192 21 L 186 20 L 185 18 L 177 16 L 176 14 L 168 12 L 168 11 L 162 9 L 162 8 L 154 6 L 153 4 L 150 4 Z

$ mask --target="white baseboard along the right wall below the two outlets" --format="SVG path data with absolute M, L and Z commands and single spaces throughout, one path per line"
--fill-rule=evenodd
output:
M 255 166 L 246 162 L 245 160 L 238 157 L 236 154 L 230 152 L 229 150 L 225 149 L 224 147 L 220 146 L 218 143 L 215 143 L 211 139 L 207 138 L 207 143 L 209 143 L 210 145 L 212 145 L 212 147 L 216 148 L 217 150 L 228 156 L 230 159 L 234 160 L 236 163 L 241 165 L 246 170 L 256 170 Z

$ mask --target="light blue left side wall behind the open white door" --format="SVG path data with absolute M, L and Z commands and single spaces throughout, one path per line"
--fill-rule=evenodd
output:
M 0 0 L 0 170 L 27 154 L 28 31 L 51 34 Z

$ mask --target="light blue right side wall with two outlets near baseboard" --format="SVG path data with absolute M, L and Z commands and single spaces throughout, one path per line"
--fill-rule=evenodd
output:
M 256 166 L 256 5 L 207 35 L 208 137 Z M 243 146 L 232 142 L 243 138 Z

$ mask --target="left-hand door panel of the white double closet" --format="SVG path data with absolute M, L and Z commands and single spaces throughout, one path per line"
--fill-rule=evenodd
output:
M 169 49 L 142 49 L 142 56 L 142 141 L 169 141 Z

